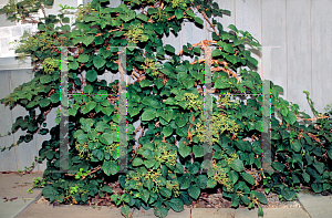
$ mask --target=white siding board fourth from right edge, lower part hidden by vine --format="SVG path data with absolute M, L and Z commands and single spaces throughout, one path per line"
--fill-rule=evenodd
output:
M 248 31 L 261 42 L 261 1 L 260 0 L 236 0 L 236 27 L 239 30 Z M 249 49 L 250 46 L 248 46 Z M 252 56 L 259 61 L 257 72 L 260 72 L 260 52 L 257 49 L 249 49 Z

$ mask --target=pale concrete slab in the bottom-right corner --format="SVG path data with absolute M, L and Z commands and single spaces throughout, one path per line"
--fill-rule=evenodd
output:
M 317 194 L 299 193 L 299 201 L 311 218 L 332 217 L 332 197 Z

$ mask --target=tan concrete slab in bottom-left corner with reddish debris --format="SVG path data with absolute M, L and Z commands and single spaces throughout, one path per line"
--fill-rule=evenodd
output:
M 32 188 L 33 177 L 40 177 L 42 173 L 25 175 L 0 174 L 0 218 L 15 217 L 20 211 L 28 207 L 40 196 L 42 189 Z

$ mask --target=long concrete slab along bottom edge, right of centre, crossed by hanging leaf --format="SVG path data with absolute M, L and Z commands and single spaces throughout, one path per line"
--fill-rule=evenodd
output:
M 264 218 L 309 218 L 302 208 L 264 208 Z M 193 208 L 191 218 L 258 218 L 257 209 Z

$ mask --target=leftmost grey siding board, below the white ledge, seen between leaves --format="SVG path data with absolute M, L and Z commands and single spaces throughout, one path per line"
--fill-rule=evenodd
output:
M 0 80 L 0 98 L 10 94 L 9 81 L 10 71 L 1 71 Z M 12 116 L 9 106 L 0 105 L 0 134 L 6 134 L 11 131 Z M 4 136 L 0 138 L 0 147 L 9 147 L 13 143 L 13 135 Z M 0 152 L 0 172 L 12 170 L 17 167 L 17 155 L 14 148 L 6 152 Z

